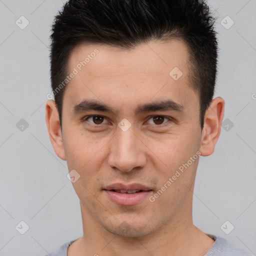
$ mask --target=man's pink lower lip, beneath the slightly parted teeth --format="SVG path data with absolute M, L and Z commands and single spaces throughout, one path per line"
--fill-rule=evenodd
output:
M 110 190 L 103 190 L 107 194 L 107 196 L 115 203 L 120 205 L 134 205 L 145 199 L 149 196 L 150 193 L 152 193 L 152 190 L 150 191 L 142 191 L 137 193 L 117 193 Z

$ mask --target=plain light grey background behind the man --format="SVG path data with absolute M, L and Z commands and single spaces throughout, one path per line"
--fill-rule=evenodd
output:
M 66 177 L 66 162 L 53 151 L 44 119 L 50 92 L 48 37 L 62 3 L 0 0 L 0 255 L 4 256 L 40 256 L 82 235 L 79 200 Z M 223 120 L 227 120 L 214 153 L 200 157 L 193 220 L 204 232 L 255 255 L 256 0 L 209 3 L 218 16 L 215 96 L 224 98 Z M 24 29 L 15 24 L 21 15 L 29 20 Z M 227 15 L 234 21 L 229 29 L 221 25 Z M 222 22 L 231 24 L 230 19 Z M 21 118 L 28 127 L 19 126 L 22 121 L 16 126 Z M 17 231 L 24 225 L 15 228 L 21 220 L 29 226 L 24 234 Z M 220 228 L 226 220 L 234 225 L 229 234 Z M 225 227 L 228 230 L 230 224 Z

